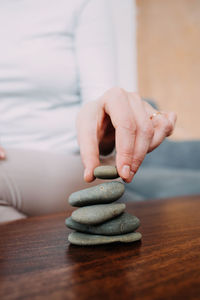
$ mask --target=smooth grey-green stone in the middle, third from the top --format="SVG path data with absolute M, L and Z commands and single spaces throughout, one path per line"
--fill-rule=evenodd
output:
M 126 205 L 124 203 L 85 206 L 73 211 L 71 217 L 78 223 L 94 225 L 120 215 L 125 208 Z

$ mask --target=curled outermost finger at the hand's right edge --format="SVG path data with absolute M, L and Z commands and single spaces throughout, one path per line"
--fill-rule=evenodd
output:
M 154 136 L 148 152 L 157 148 L 167 136 L 172 134 L 175 122 L 176 115 L 174 113 L 162 113 L 152 119 Z

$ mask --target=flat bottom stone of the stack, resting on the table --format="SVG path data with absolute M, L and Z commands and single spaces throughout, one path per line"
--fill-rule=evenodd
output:
M 141 240 L 142 235 L 140 232 L 131 232 L 122 235 L 91 235 L 80 232 L 72 232 L 68 236 L 68 241 L 71 244 L 79 246 L 101 245 L 115 242 L 132 243 Z

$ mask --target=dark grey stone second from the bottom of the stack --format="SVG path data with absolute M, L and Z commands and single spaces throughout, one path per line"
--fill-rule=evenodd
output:
M 140 226 L 140 220 L 126 212 L 112 220 L 99 225 L 85 225 L 75 222 L 71 217 L 65 220 L 68 228 L 79 232 L 102 234 L 102 235 L 121 235 L 135 231 Z

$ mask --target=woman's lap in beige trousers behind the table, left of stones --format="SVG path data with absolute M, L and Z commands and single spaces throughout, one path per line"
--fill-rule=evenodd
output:
M 14 219 L 63 211 L 70 193 L 89 186 L 80 155 L 24 149 L 6 149 L 6 154 L 0 161 L 0 222 L 10 207 Z

